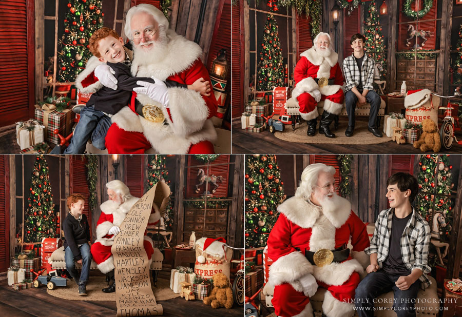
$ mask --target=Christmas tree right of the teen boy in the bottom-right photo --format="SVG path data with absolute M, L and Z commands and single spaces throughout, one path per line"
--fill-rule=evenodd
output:
M 415 208 L 432 227 L 433 215 L 441 213 L 446 217 L 446 223 L 452 224 L 454 198 L 451 197 L 452 166 L 449 165 L 449 155 L 422 155 L 419 161 L 419 194 L 415 199 Z M 451 226 L 439 229 L 441 240 L 449 240 Z

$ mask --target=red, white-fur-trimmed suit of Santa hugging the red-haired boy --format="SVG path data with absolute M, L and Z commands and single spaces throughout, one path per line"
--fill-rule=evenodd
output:
M 167 30 L 167 51 L 158 56 L 156 62 L 141 61 L 134 57 L 131 65 L 133 76 L 171 80 L 191 85 L 199 78 L 210 82 L 207 69 L 200 61 L 202 49 L 185 37 Z M 76 87 L 83 93 L 93 93 L 102 84 L 94 76 L 94 69 L 102 64 L 93 56 L 76 78 Z M 134 97 L 143 104 L 159 106 L 168 122 L 154 123 L 138 115 L 134 110 Z M 109 153 L 144 153 L 154 148 L 158 153 L 214 153 L 213 144 L 217 132 L 210 118 L 217 112 L 217 101 L 213 91 L 210 96 L 185 88 L 168 88 L 168 108 L 151 100 L 146 95 L 133 93 L 130 107 L 124 107 L 111 117 L 112 125 L 106 134 Z

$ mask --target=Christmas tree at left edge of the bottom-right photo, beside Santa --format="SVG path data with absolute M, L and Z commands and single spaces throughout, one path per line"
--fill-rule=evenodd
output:
M 276 155 L 248 155 L 245 168 L 245 247 L 266 245 L 285 200 Z

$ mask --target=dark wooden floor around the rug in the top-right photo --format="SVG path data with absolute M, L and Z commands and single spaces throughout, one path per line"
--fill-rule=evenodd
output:
M 357 120 L 365 120 L 357 118 Z M 335 131 L 344 133 L 345 131 Z M 241 118 L 234 118 L 232 121 L 232 152 L 233 154 L 247 153 L 320 153 L 320 154 L 421 154 L 410 144 L 396 144 L 386 142 L 381 144 L 305 144 L 282 141 L 268 130 L 261 133 L 246 133 L 241 129 Z M 458 140 L 462 140 L 462 134 L 456 134 Z M 354 136 L 353 136 L 354 137 Z M 450 151 L 441 153 L 462 153 L 462 145 L 454 144 Z M 431 152 L 429 152 L 431 153 Z

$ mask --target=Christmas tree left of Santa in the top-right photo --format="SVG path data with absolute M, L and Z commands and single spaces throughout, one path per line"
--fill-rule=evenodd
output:
M 282 86 L 284 80 L 281 42 L 274 15 L 267 14 L 257 68 L 257 90 L 269 91 Z

